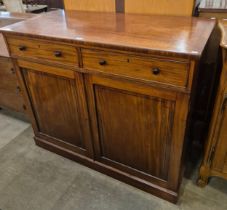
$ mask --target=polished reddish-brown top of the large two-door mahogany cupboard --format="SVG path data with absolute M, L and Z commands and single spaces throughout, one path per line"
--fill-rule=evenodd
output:
M 199 57 L 215 26 L 194 17 L 58 10 L 0 31 L 86 45 Z

